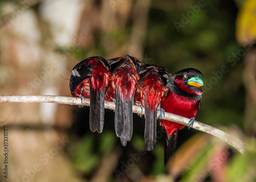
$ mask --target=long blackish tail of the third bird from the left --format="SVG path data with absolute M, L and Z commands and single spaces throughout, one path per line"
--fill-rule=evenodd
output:
M 147 107 L 147 102 L 145 99 L 145 148 L 147 151 L 156 148 L 157 142 L 157 111 L 150 111 Z

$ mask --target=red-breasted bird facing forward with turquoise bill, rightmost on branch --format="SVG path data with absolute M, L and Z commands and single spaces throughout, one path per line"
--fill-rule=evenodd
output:
M 202 73 L 194 68 L 183 69 L 171 75 L 166 84 L 170 90 L 161 103 L 161 108 L 165 112 L 190 118 L 189 126 L 192 126 L 202 101 L 202 79 Z M 161 120 L 160 125 L 166 131 L 164 164 L 167 165 L 176 149 L 178 130 L 184 128 L 184 125 L 167 120 Z

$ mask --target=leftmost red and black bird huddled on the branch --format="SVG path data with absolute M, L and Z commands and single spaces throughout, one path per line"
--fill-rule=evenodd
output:
M 90 57 L 78 63 L 71 72 L 70 90 L 73 97 L 90 98 L 90 129 L 102 132 L 104 125 L 105 90 L 111 82 L 108 62 Z

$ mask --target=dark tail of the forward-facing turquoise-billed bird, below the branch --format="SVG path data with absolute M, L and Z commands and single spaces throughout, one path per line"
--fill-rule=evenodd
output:
M 175 154 L 178 140 L 178 129 L 171 135 L 168 136 L 164 132 L 164 165 L 167 166 L 170 157 Z

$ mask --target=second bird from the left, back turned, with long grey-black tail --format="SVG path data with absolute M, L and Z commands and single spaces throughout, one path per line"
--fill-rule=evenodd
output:
M 115 101 L 115 131 L 123 146 L 133 134 L 133 102 L 140 75 L 138 59 L 125 55 L 108 60 L 112 72 L 111 85 L 106 90 L 105 100 Z

